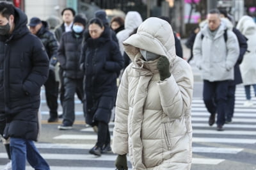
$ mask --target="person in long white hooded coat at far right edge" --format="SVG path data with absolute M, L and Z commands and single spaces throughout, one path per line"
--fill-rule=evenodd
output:
M 248 39 L 248 49 L 244 54 L 240 70 L 246 95 L 246 102 L 244 102 L 244 106 L 252 107 L 251 86 L 254 89 L 253 96 L 256 96 L 256 24 L 252 17 L 245 15 L 241 17 L 236 27 Z

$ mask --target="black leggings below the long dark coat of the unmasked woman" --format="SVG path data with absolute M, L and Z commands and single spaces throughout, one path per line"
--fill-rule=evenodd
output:
M 96 143 L 96 146 L 102 148 L 102 146 L 105 146 L 110 143 L 110 134 L 109 134 L 109 127 L 108 123 L 105 123 L 104 121 L 99 121 L 98 123 L 98 140 Z

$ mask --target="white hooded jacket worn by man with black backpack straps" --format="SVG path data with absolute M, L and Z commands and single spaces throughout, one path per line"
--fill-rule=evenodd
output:
M 234 65 L 239 57 L 239 44 L 236 35 L 227 30 L 227 42 L 223 37 L 227 27 L 221 22 L 212 38 L 207 24 L 196 35 L 193 56 L 201 70 L 202 79 L 213 81 L 234 80 Z M 202 38 L 204 35 L 204 38 Z

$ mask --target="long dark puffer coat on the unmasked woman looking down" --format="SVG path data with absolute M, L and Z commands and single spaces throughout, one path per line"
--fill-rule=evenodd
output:
M 116 97 L 116 78 L 124 66 L 124 59 L 111 39 L 110 29 L 104 29 L 97 39 L 91 38 L 86 31 L 84 40 L 80 63 L 84 70 L 86 123 L 109 123 Z

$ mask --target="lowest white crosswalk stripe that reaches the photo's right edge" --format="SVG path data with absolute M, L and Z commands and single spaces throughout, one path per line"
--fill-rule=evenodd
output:
M 220 138 L 220 137 L 193 137 L 194 143 L 240 143 L 255 144 L 256 139 L 237 139 L 237 138 Z

